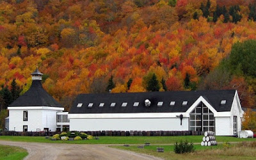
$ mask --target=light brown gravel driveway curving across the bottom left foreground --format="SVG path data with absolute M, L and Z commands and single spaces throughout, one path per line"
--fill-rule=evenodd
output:
M 159 159 L 127 150 L 110 148 L 108 145 L 79 145 L 59 143 L 29 143 L 0 141 L 3 145 L 14 145 L 28 150 L 25 159 Z

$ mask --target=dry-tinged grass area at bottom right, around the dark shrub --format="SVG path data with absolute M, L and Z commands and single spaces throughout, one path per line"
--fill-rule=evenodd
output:
M 129 150 L 132 152 L 138 152 L 141 154 L 148 154 L 155 157 L 161 157 L 163 159 L 255 159 L 256 157 L 256 141 L 250 142 L 254 145 L 248 146 L 239 143 L 236 145 L 217 145 L 211 147 L 202 147 L 201 145 L 194 145 L 195 152 L 187 154 L 175 154 L 173 152 L 173 145 L 151 145 L 144 148 L 138 148 L 137 146 L 111 146 L 113 148 Z M 157 152 L 156 148 L 164 148 L 164 152 Z

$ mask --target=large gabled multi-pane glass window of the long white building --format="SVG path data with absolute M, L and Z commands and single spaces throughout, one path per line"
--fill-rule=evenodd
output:
M 212 111 L 201 102 L 191 111 L 189 125 L 190 131 L 214 131 L 214 115 Z

